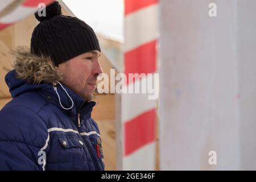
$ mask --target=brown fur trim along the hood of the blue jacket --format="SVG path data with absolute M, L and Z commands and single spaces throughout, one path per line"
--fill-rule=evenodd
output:
M 34 84 L 53 84 L 63 80 L 60 70 L 55 67 L 50 57 L 36 56 L 27 47 L 18 47 L 10 53 L 14 56 L 13 68 L 18 73 L 17 78 Z

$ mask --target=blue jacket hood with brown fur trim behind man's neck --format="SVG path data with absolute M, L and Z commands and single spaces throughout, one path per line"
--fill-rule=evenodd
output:
M 14 70 L 7 73 L 5 82 L 13 98 L 62 80 L 49 57 L 33 55 L 26 47 L 18 47 L 10 53 L 14 56 Z

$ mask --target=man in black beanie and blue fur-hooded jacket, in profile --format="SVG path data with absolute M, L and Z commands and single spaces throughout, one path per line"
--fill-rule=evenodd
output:
M 100 46 L 88 24 L 46 8 L 30 50 L 13 52 L 11 100 L 0 111 L 1 170 L 104 170 L 100 131 L 91 118 Z

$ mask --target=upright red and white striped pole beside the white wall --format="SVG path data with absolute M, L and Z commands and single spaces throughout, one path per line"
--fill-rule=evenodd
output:
M 129 73 L 155 73 L 158 0 L 125 0 L 124 68 Z M 148 80 L 129 80 L 127 87 Z M 122 94 L 123 170 L 155 169 L 156 100 L 148 94 Z

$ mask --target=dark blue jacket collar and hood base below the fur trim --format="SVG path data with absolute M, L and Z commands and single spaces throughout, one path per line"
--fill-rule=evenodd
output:
M 73 92 L 64 84 L 56 84 L 56 90 L 59 94 L 57 96 L 56 90 L 54 89 L 54 85 L 51 83 L 42 83 L 42 84 L 32 84 L 31 82 L 27 82 L 23 79 L 16 78 L 16 72 L 13 69 L 5 76 L 6 84 L 9 86 L 9 90 L 11 96 L 13 98 L 18 97 L 22 93 L 36 91 L 40 93 L 48 102 L 59 107 L 64 113 L 67 113 L 70 117 L 77 117 L 80 113 L 84 119 L 90 118 L 93 106 L 96 105 L 94 101 L 85 101 L 84 98 L 79 96 L 77 93 Z M 67 91 L 67 93 L 65 92 Z M 69 98 L 70 96 L 71 98 Z M 63 109 L 63 107 L 68 108 L 73 107 L 69 110 Z M 63 106 L 61 106 L 60 105 Z

